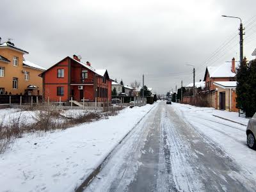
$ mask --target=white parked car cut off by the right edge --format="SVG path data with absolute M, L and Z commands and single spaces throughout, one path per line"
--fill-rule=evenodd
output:
M 247 135 L 247 145 L 249 148 L 256 149 L 256 113 L 253 115 L 252 118 L 250 118 L 247 129 L 246 129 L 246 135 Z

